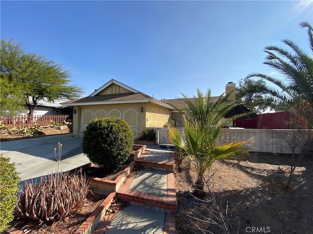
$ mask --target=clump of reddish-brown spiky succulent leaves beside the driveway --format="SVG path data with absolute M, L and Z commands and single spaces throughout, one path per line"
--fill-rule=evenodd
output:
M 91 180 L 82 173 L 51 173 L 40 182 L 26 181 L 15 215 L 34 221 L 57 221 L 86 198 Z

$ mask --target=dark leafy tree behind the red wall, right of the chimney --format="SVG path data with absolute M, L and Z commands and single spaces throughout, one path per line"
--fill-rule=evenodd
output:
M 244 103 L 246 107 L 255 113 L 264 112 L 268 108 L 273 109 L 275 106 L 268 100 L 266 93 L 254 90 L 253 87 L 255 86 L 266 86 L 266 82 L 263 79 L 240 79 L 239 86 L 236 88 L 237 102 Z

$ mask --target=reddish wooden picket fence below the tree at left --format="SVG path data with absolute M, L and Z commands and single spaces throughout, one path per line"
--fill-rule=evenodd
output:
M 17 117 L 0 117 L 0 123 L 4 124 L 8 128 L 14 127 L 31 127 L 31 126 L 46 126 L 53 122 L 63 123 L 69 116 L 68 115 L 34 115 L 28 116 L 17 116 Z

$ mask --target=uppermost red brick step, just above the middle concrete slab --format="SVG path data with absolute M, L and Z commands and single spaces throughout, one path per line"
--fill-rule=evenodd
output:
M 135 160 L 135 164 L 146 169 L 174 172 L 175 152 L 170 153 L 168 162 L 145 160 L 147 153 L 149 153 L 149 151 L 145 151 L 140 157 L 138 157 Z

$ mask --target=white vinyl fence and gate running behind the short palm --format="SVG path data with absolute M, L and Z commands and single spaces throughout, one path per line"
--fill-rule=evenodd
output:
M 164 128 L 156 128 L 156 143 L 170 144 Z M 184 131 L 181 128 L 181 131 Z M 297 131 L 293 129 L 223 129 L 221 143 L 249 140 L 248 147 L 251 152 L 265 152 L 274 154 L 291 154 L 291 144 L 297 145 L 295 153 L 300 153 L 310 130 Z

